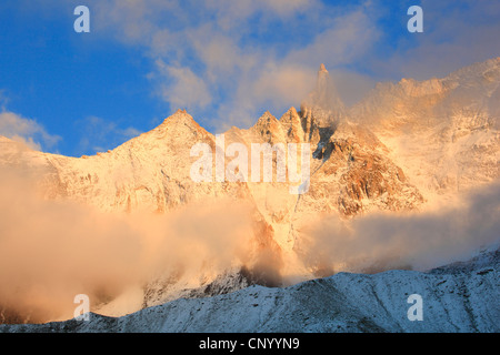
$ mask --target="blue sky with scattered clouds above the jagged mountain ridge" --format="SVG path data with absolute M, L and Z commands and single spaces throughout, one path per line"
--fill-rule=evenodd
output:
M 280 116 L 324 63 L 344 101 L 377 81 L 500 55 L 498 1 L 2 0 L 0 134 L 80 156 L 187 109 L 211 132 Z M 76 33 L 73 9 L 90 9 Z M 423 9 L 423 33 L 407 10 Z

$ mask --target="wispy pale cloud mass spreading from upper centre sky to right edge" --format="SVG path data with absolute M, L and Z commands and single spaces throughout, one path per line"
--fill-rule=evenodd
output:
M 227 126 L 246 125 L 266 109 L 278 115 L 284 106 L 299 105 L 308 85 L 301 81 L 314 79 L 304 74 L 321 62 L 343 79 L 349 75 L 341 70 L 353 68 L 348 74 L 356 83 L 346 81 L 352 103 L 372 84 L 363 72 L 376 80 L 400 74 L 428 79 L 493 57 L 500 28 L 491 19 L 500 7 L 473 4 L 422 1 L 424 33 L 407 37 L 384 23 L 406 24 L 406 11 L 396 13 L 404 6 L 377 0 L 342 6 L 317 0 L 101 0 L 93 6 L 93 23 L 96 34 L 134 45 L 151 59 L 152 91 L 172 111 L 186 108 L 214 126 Z M 406 33 L 404 26 L 401 31 Z M 380 45 L 388 51 L 381 53 Z M 294 82 L 289 80 L 293 72 Z M 343 94 L 342 88 L 339 92 Z

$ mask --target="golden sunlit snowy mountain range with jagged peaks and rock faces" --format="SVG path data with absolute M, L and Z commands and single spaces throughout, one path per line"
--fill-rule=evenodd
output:
M 180 110 L 152 131 L 93 156 L 36 152 L 0 138 L 0 169 L 16 166 L 37 176 L 47 199 L 70 199 L 104 212 L 167 214 L 217 199 L 251 204 L 254 258 L 287 255 L 287 261 L 296 262 L 283 267 L 308 278 L 316 271 L 301 264 L 300 245 L 313 219 L 337 213 L 349 221 L 377 211 L 422 211 L 443 195 L 451 199 L 498 179 L 499 83 L 500 59 L 493 59 L 444 79 L 379 84 L 347 109 L 321 65 L 317 88 L 300 111 L 291 108 L 279 120 L 266 112 L 252 128 L 224 133 L 224 148 L 241 143 L 249 152 L 252 144 L 310 144 L 309 191 L 301 195 L 289 193 L 289 180 L 194 182 L 190 173 L 198 156 L 191 156 L 191 148 L 206 143 L 216 152 L 217 139 Z M 226 156 L 224 166 L 230 162 Z M 274 171 L 277 165 L 273 156 Z M 256 280 L 266 284 L 252 267 L 248 277 L 240 277 L 248 266 L 228 272 L 224 280 L 230 286 L 211 277 L 196 291 L 182 288 L 168 272 L 144 286 L 142 305 L 236 291 Z M 274 297 L 280 292 L 271 293 Z

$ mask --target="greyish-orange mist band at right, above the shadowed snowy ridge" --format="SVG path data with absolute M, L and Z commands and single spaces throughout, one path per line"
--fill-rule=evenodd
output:
M 304 227 L 298 251 L 319 275 L 427 271 L 499 247 L 499 201 L 496 183 L 440 212 L 371 213 L 350 221 L 322 215 Z

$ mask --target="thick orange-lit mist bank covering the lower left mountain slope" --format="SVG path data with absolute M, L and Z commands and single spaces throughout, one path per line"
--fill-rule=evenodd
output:
M 199 286 L 201 276 L 233 265 L 259 268 L 257 251 L 272 253 L 256 240 L 244 204 L 103 213 L 43 199 L 22 171 L 0 173 L 0 323 L 71 318 L 77 294 L 87 294 L 92 308 L 179 270 Z

